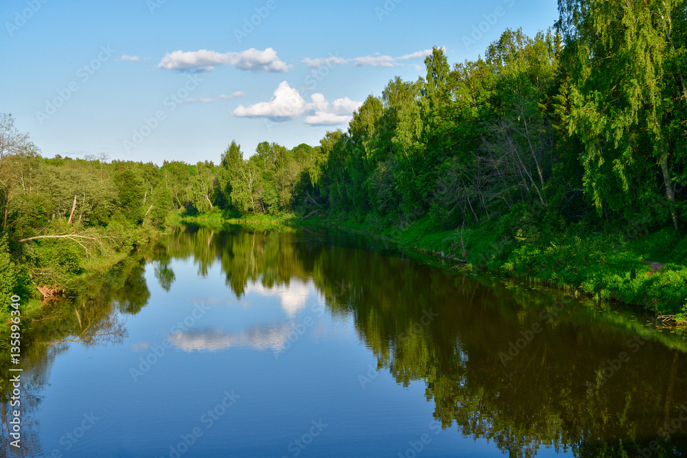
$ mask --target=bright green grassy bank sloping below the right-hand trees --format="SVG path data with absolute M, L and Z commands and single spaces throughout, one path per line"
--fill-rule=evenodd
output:
M 458 261 L 464 268 L 486 268 L 596 299 L 642 306 L 687 324 L 687 238 L 672 227 L 650 233 L 583 223 L 541 229 L 545 225 L 502 220 L 438 231 L 429 217 L 401 229 L 369 216 L 311 218 L 298 224 L 388 238 L 402 249 Z M 513 229 L 515 225 L 519 228 Z

